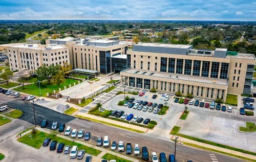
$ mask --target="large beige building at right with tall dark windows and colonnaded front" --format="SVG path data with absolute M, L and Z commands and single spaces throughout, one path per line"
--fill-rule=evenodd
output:
M 183 96 L 226 100 L 227 93 L 252 93 L 253 54 L 193 49 L 193 45 L 139 43 L 127 51 L 127 68 L 120 72 L 128 86 Z

